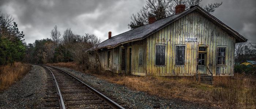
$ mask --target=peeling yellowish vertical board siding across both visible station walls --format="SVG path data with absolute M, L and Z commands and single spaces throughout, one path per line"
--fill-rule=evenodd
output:
M 185 41 L 197 38 L 197 41 Z M 146 39 L 125 44 L 125 72 L 129 71 L 129 48 L 132 49 L 131 73 L 133 75 L 193 76 L 197 73 L 198 46 L 207 47 L 207 74 L 233 76 L 234 47 L 236 40 L 222 28 L 199 12 L 191 12 L 160 29 Z M 155 65 L 155 45 L 165 45 L 165 65 Z M 176 45 L 185 45 L 185 65 L 175 65 Z M 139 48 L 142 47 L 142 65 L 139 65 Z M 218 47 L 226 47 L 226 65 L 217 65 Z M 110 51 L 110 68 L 107 54 Z M 100 51 L 102 68 L 121 73 L 121 47 Z M 210 71 L 208 70 L 210 69 Z

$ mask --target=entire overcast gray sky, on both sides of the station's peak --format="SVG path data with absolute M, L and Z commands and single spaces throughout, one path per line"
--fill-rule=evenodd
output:
M 256 43 L 256 0 L 203 0 L 200 5 L 221 2 L 212 15 Z M 129 30 L 132 13 L 146 4 L 145 0 L 0 0 L 0 10 L 15 17 L 25 41 L 50 38 L 57 25 L 78 35 L 95 34 L 101 40 Z

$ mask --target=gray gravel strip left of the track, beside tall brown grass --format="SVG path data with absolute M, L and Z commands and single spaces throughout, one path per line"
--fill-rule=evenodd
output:
M 46 72 L 41 66 L 32 65 L 20 81 L 0 93 L 1 109 L 42 108 L 46 89 Z

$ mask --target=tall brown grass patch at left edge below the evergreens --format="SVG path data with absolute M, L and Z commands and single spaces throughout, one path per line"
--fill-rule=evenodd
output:
M 0 66 L 0 90 L 4 90 L 29 72 L 31 66 L 21 62 Z

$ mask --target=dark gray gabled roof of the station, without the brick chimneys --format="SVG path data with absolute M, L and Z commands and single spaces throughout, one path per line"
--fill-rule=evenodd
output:
M 208 17 L 211 17 L 215 22 L 222 24 L 221 26 L 223 26 L 223 28 L 226 29 L 226 31 L 230 31 L 230 33 L 232 33 L 233 35 L 237 36 L 236 39 L 241 42 L 246 41 L 247 39 L 245 39 L 243 36 L 241 36 L 239 33 L 237 33 L 236 31 L 234 31 L 233 29 L 227 27 L 227 25 L 223 24 L 221 21 L 219 21 L 216 17 L 212 16 L 211 14 L 209 14 L 208 12 L 206 12 L 204 9 L 202 9 L 201 7 L 199 7 L 198 5 L 195 7 L 192 7 L 190 9 L 186 9 L 185 11 L 179 13 L 179 14 L 175 14 L 169 17 L 166 17 L 165 19 L 161 19 L 158 21 L 155 21 L 152 24 L 147 24 L 144 25 L 142 27 L 138 27 L 135 29 L 132 29 L 130 31 L 121 33 L 119 35 L 113 36 L 110 39 L 107 39 L 103 42 L 101 42 L 97 48 L 104 48 L 104 47 L 116 47 L 120 44 L 123 43 L 127 43 L 129 41 L 136 41 L 136 40 L 141 40 L 144 39 L 145 37 L 153 34 L 154 32 L 158 31 L 159 29 L 165 27 L 166 25 L 172 23 L 173 21 L 179 19 L 180 17 L 187 15 L 187 13 L 190 13 L 192 11 L 194 11 L 195 9 L 200 10 L 202 13 L 204 13 L 205 15 L 207 15 Z M 91 48 L 93 49 L 93 48 Z M 90 49 L 90 50 L 91 50 Z

